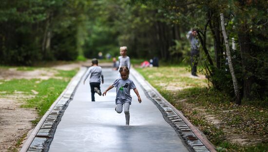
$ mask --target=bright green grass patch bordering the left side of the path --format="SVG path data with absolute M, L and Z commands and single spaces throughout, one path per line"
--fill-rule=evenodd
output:
M 63 71 L 58 70 L 57 76 L 62 79 L 50 78 L 48 80 L 41 79 L 12 79 L 9 81 L 0 80 L 0 92 L 6 92 L 6 95 L 12 95 L 16 92 L 23 92 L 23 95 L 34 95 L 32 90 L 38 92 L 34 98 L 25 100 L 21 106 L 23 108 L 35 108 L 39 116 L 46 113 L 52 103 L 65 89 L 69 81 L 77 70 Z M 3 94 L 0 94 L 3 96 Z

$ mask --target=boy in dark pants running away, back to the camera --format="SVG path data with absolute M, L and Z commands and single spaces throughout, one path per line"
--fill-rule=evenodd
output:
M 87 75 L 84 78 L 84 84 L 87 79 L 87 77 L 90 75 L 89 79 L 89 84 L 91 88 L 91 101 L 95 101 L 95 92 L 98 95 L 101 95 L 100 92 L 100 77 L 101 77 L 101 82 L 103 84 L 103 75 L 102 75 L 102 70 L 101 67 L 98 66 L 98 60 L 96 58 L 92 59 L 92 66 L 88 69 Z

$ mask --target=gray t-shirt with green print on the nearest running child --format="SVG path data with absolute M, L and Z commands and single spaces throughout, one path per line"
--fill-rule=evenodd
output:
M 115 104 L 125 102 L 129 102 L 131 104 L 132 97 L 130 95 L 130 90 L 136 88 L 134 82 L 130 78 L 123 80 L 120 77 L 117 78 L 112 85 L 116 87 Z

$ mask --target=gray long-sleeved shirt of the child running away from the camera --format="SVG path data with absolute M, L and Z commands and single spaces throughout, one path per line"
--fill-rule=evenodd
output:
M 91 74 L 91 75 L 90 75 Z M 100 83 L 100 77 L 103 79 L 102 70 L 100 66 L 92 66 L 88 69 L 87 75 L 85 76 L 84 81 L 90 75 L 89 82 L 98 82 Z

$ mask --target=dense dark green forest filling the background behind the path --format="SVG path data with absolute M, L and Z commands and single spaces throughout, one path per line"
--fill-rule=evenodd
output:
M 224 13 L 241 98 L 268 107 L 266 0 L 4 0 L 0 5 L 0 63 L 83 60 L 98 52 L 131 58 L 189 60 L 186 34 L 198 30 L 200 72 L 211 87 L 234 96 L 220 23 Z M 258 102 L 257 102 L 258 101 Z

